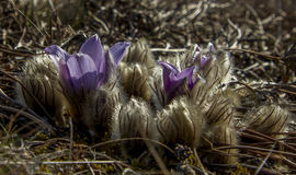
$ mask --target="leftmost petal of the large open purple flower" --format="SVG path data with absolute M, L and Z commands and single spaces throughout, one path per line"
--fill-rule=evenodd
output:
M 59 60 L 62 59 L 67 62 L 70 55 L 57 45 L 48 46 L 44 49 L 45 52 L 49 52 L 50 59 L 55 62 L 56 67 L 59 67 Z

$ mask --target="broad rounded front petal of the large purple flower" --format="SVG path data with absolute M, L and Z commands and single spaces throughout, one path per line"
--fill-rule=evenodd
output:
M 84 54 L 73 54 L 67 61 L 75 89 L 92 88 L 96 79 L 96 68 L 92 58 Z

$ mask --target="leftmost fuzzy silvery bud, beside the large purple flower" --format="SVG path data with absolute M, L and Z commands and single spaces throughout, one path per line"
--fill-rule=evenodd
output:
M 62 93 L 58 81 L 58 72 L 47 55 L 39 55 L 26 61 L 23 74 L 20 75 L 23 85 L 39 101 L 47 113 L 53 116 L 56 125 L 67 127 L 68 118 L 65 118 L 62 108 L 69 107 L 69 102 Z M 21 84 L 16 84 L 15 90 L 18 101 L 25 104 L 39 115 L 44 115 L 36 101 L 24 90 Z

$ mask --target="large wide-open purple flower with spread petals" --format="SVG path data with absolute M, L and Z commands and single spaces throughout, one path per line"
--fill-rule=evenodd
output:
M 99 36 L 93 35 L 81 46 L 78 54 L 69 55 L 57 45 L 44 50 L 49 52 L 64 85 L 80 94 L 81 90 L 99 89 L 116 70 L 129 45 L 117 43 L 104 54 Z

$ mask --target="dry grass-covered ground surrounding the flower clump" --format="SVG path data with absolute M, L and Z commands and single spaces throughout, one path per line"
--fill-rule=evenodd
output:
M 37 120 L 36 116 L 15 101 L 18 77 L 27 59 L 53 44 L 73 52 L 93 34 L 109 46 L 116 42 L 135 44 L 145 38 L 155 59 L 182 52 L 195 43 L 205 46 L 210 42 L 231 55 L 234 82 L 255 93 L 250 98 L 257 104 L 241 102 L 236 108 L 237 118 L 266 101 L 284 103 L 294 115 L 295 9 L 293 0 L 1 0 L 1 173 L 99 174 L 146 170 L 152 174 L 152 170 L 159 170 L 157 163 L 145 165 L 144 159 L 117 158 L 116 142 L 92 145 L 83 137 L 71 140 L 70 136 L 53 136 L 49 126 L 30 124 Z M 185 171 L 177 166 L 182 162 L 196 173 L 248 174 L 261 168 L 262 174 L 293 174 L 294 122 L 289 127 L 282 141 L 271 133 L 237 128 L 242 137 L 238 148 L 243 156 L 237 164 L 215 165 L 202 160 L 206 168 L 203 170 L 192 154 L 186 160 L 168 163 L 167 168 L 175 173 Z M 64 130 L 70 135 L 67 128 Z M 264 159 L 267 163 L 260 167 Z

